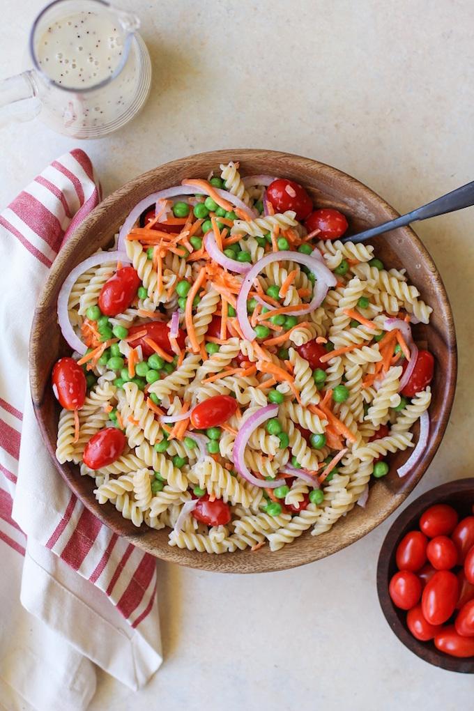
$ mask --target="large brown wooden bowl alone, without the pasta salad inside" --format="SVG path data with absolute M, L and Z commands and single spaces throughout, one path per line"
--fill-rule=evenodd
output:
M 179 184 L 183 178 L 202 178 L 219 164 L 230 159 L 240 161 L 242 175 L 269 173 L 291 178 L 305 186 L 315 205 L 338 208 L 348 216 L 352 232 L 397 217 L 382 198 L 354 178 L 301 156 L 276 151 L 228 150 L 190 156 L 145 173 L 106 198 L 80 225 L 56 258 L 41 293 L 33 319 L 30 348 L 31 395 L 46 447 L 61 476 L 72 491 L 110 528 L 156 557 L 204 570 L 220 572 L 264 572 L 284 570 L 330 555 L 355 542 L 382 523 L 399 506 L 426 471 L 441 442 L 453 403 L 456 384 L 456 336 L 448 297 L 433 260 L 418 237 L 409 228 L 374 240 L 377 257 L 390 267 L 406 267 L 411 283 L 423 299 L 433 306 L 431 324 L 416 326 L 416 338 L 426 341 L 436 357 L 437 368 L 432 383 L 431 432 L 424 456 L 409 476 L 399 479 L 396 469 L 406 461 L 406 452 L 392 458 L 392 470 L 371 488 L 367 507 L 355 507 L 324 535 L 314 538 L 308 533 L 278 552 L 265 546 L 254 554 L 249 550 L 230 555 L 206 555 L 168 546 L 166 530 L 140 529 L 122 518 L 113 506 L 99 506 L 95 500 L 94 482 L 79 476 L 77 466 L 58 464 L 55 442 L 58 407 L 50 387 L 50 372 L 60 355 L 68 353 L 56 320 L 56 301 L 64 279 L 71 269 L 99 249 L 107 247 L 112 235 L 124 222 L 131 208 L 153 191 Z

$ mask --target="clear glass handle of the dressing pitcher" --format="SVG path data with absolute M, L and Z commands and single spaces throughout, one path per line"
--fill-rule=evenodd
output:
M 0 80 L 0 127 L 12 120 L 30 121 L 40 109 L 33 72 Z

